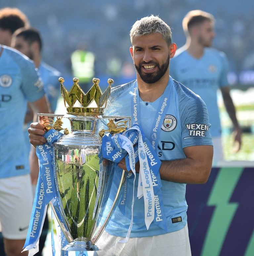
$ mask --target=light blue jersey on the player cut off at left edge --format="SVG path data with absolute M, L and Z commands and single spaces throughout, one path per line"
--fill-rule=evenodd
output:
M 23 122 L 27 101 L 44 96 L 34 64 L 25 55 L 3 47 L 0 56 L 0 178 L 29 173 Z

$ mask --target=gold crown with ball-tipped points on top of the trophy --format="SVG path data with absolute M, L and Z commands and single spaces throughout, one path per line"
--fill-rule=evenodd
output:
M 93 86 L 87 93 L 84 93 L 78 84 L 78 78 L 73 78 L 74 84 L 70 92 L 64 87 L 64 78 L 60 77 L 58 81 L 61 84 L 61 94 L 64 98 L 67 113 L 75 115 L 102 115 L 110 95 L 111 85 L 114 83 L 113 79 L 108 79 L 109 85 L 102 93 L 99 87 L 100 79 L 94 78 L 92 80 Z

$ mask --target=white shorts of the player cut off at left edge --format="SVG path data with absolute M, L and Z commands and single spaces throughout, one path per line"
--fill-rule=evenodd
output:
M 30 174 L 0 179 L 0 222 L 4 238 L 26 238 L 33 198 Z

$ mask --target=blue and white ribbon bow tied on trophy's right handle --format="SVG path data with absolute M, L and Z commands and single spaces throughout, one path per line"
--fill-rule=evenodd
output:
M 164 205 L 161 195 L 161 180 L 159 176 L 159 168 L 161 161 L 153 150 L 148 139 L 139 125 L 134 125 L 127 129 L 123 134 L 116 134 L 111 136 L 107 133 L 103 137 L 103 157 L 105 159 L 118 163 L 125 157 L 127 170 L 132 170 L 133 175 L 128 175 L 133 179 L 133 185 L 130 183 L 127 186 L 127 181 L 124 184 L 124 193 L 120 200 L 119 209 L 124 212 L 126 207 L 127 193 L 133 194 L 131 205 L 131 223 L 125 239 L 120 242 L 127 242 L 133 224 L 133 204 L 134 204 L 134 183 L 136 179 L 135 163 L 140 161 L 139 182 L 137 197 L 144 198 L 145 204 L 145 224 L 147 229 L 154 221 L 156 225 L 167 231 L 166 217 L 164 212 Z M 126 155 L 127 154 L 127 155 Z M 145 195 L 145 196 L 144 196 Z M 128 195 L 129 197 L 130 195 Z

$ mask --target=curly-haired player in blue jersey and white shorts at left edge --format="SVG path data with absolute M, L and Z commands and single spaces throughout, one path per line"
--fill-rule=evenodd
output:
M 21 253 L 34 197 L 22 129 L 27 101 L 34 121 L 37 113 L 50 111 L 33 62 L 7 47 L 12 34 L 27 26 L 26 16 L 17 8 L 0 9 L 0 221 L 8 256 L 28 255 Z

